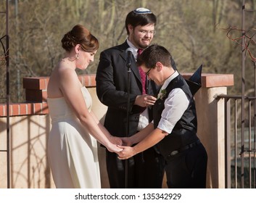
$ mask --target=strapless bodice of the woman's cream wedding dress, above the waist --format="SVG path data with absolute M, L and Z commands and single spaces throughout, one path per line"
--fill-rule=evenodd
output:
M 87 88 L 84 86 L 81 88 L 81 91 L 83 94 L 83 98 L 86 101 L 86 106 L 88 110 L 91 111 L 91 106 L 92 106 L 91 95 L 88 92 Z M 75 112 L 70 107 L 70 105 L 67 104 L 64 97 L 47 98 L 47 103 L 49 107 L 49 115 L 51 116 L 52 122 L 66 120 L 66 119 L 75 117 Z

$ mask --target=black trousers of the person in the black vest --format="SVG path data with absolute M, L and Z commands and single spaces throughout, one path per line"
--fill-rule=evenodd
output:
M 207 152 L 202 144 L 166 160 L 168 188 L 205 188 Z

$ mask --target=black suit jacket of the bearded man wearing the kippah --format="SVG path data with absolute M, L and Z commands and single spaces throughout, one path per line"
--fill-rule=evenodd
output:
M 96 94 L 102 104 L 108 107 L 104 126 L 113 136 L 126 136 L 128 68 L 125 50 L 128 47 L 125 41 L 121 45 L 102 51 L 96 71 Z M 134 105 L 134 101 L 136 96 L 142 94 L 141 77 L 134 57 L 131 62 L 128 136 L 137 131 L 141 107 Z M 154 81 L 146 79 L 146 94 L 156 96 L 158 89 Z M 149 109 L 149 118 L 152 118 L 152 109 Z

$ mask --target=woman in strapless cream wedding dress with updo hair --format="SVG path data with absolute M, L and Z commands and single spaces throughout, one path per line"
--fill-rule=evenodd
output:
M 91 111 L 91 95 L 82 86 L 76 68 L 85 70 L 94 61 L 98 40 L 75 25 L 62 38 L 66 54 L 51 73 L 47 87 L 51 131 L 48 157 L 57 188 L 101 188 L 97 143 L 110 152 L 122 144 L 99 123 Z

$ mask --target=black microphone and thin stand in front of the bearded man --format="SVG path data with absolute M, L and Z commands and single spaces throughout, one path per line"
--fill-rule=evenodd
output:
M 126 137 L 129 136 L 129 112 L 130 112 L 130 80 L 131 80 L 131 62 L 126 63 L 128 80 L 127 80 L 127 110 L 126 110 Z M 125 159 L 125 188 L 128 188 L 128 159 Z

